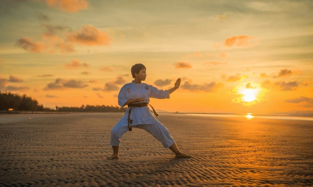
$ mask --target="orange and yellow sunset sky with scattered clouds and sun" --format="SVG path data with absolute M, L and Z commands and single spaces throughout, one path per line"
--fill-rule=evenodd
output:
M 5 3 L 4 3 L 5 2 Z M 313 111 L 312 1 L 5 0 L 0 91 L 117 105 L 131 66 L 168 112 Z

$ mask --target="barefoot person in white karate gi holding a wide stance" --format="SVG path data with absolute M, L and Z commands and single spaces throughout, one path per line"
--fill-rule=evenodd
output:
M 131 74 L 134 80 L 131 83 L 125 84 L 118 94 L 118 104 L 121 107 L 128 105 L 128 108 L 124 116 L 111 131 L 110 146 L 112 146 L 113 154 L 109 156 L 108 159 L 119 157 L 118 153 L 121 139 L 127 131 L 131 131 L 131 128 L 146 130 L 160 141 L 165 148 L 169 148 L 173 151 L 176 157 L 191 157 L 191 155 L 182 153 L 178 149 L 170 132 L 152 115 L 147 106 L 147 103 L 150 101 L 149 98 L 170 98 L 170 94 L 179 88 L 181 79 L 177 79 L 173 88 L 163 91 L 152 85 L 141 82 L 146 80 L 147 76 L 146 67 L 144 65 L 133 65 L 131 67 Z M 154 109 L 153 112 L 155 113 Z

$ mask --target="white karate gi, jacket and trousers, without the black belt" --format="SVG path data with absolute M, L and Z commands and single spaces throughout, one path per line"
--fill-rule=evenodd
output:
M 152 85 L 146 83 L 140 83 L 137 88 L 134 81 L 125 84 L 118 94 L 118 104 L 124 107 L 128 99 L 145 98 L 140 103 L 149 103 L 149 98 L 170 98 L 169 90 L 159 90 Z M 149 106 L 149 105 L 148 105 Z M 167 128 L 162 125 L 151 113 L 150 108 L 146 107 L 132 107 L 131 127 L 141 128 L 149 132 L 157 140 L 161 141 L 165 148 L 170 147 L 174 143 L 170 132 Z M 113 127 L 111 131 L 110 146 L 119 146 L 121 138 L 128 131 L 128 112 L 130 108 L 126 109 L 124 116 L 119 122 Z

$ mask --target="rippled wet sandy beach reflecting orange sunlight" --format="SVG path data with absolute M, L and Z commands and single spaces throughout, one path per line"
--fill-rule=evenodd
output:
M 175 158 L 133 128 L 112 153 L 123 113 L 1 114 L 0 186 L 310 186 L 313 122 L 160 114 Z

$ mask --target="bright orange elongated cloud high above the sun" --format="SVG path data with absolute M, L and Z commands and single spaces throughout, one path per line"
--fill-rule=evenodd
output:
M 232 36 L 230 38 L 226 38 L 224 41 L 224 45 L 227 47 L 236 46 L 243 46 L 249 47 L 254 46 L 257 43 L 257 40 L 253 40 L 255 37 L 253 36 Z M 249 40 L 253 40 L 252 43 Z

